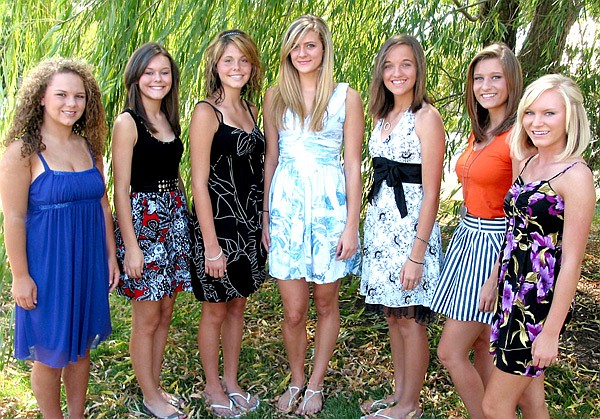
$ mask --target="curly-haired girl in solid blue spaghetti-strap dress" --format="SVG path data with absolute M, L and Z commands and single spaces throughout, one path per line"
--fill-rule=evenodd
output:
M 119 269 L 102 151 L 106 121 L 86 65 L 40 63 L 19 90 L 0 162 L 4 240 L 13 274 L 15 357 L 32 360 L 44 417 L 83 418 L 89 351 L 111 333 Z

